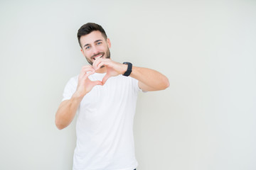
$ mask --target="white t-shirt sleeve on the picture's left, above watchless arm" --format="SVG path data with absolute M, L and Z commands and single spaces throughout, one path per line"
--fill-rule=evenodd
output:
M 63 91 L 63 100 L 62 101 L 69 100 L 75 93 L 77 86 L 78 86 L 78 76 L 69 79 L 69 81 L 65 85 L 65 89 Z

